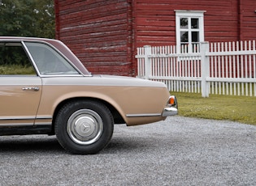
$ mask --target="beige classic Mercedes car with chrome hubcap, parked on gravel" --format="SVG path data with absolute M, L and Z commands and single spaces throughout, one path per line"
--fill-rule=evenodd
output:
M 114 124 L 176 115 L 163 82 L 94 75 L 63 42 L 0 36 L 0 135 L 49 134 L 71 154 L 96 154 Z

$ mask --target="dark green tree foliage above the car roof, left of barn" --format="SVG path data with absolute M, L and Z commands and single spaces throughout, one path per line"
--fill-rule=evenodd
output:
M 0 36 L 54 38 L 54 0 L 0 0 Z

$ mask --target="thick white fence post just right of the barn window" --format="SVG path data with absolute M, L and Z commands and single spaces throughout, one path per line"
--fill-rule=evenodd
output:
M 209 82 L 206 78 L 210 76 L 210 57 L 206 56 L 209 53 L 209 42 L 202 42 L 200 44 L 201 51 L 201 77 L 202 77 L 202 97 L 209 97 Z

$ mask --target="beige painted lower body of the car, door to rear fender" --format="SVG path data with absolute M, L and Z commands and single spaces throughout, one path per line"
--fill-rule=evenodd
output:
M 75 98 L 111 104 L 127 125 L 166 118 L 162 113 L 170 95 L 162 83 L 108 77 L 1 77 L 0 100 L 5 106 L 0 107 L 0 124 L 52 125 L 58 105 Z M 39 90 L 23 90 L 26 87 Z

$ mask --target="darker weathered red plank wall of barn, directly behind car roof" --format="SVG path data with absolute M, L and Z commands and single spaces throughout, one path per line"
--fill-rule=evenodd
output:
M 132 76 L 132 11 L 127 0 L 56 0 L 55 7 L 56 38 L 89 71 Z

